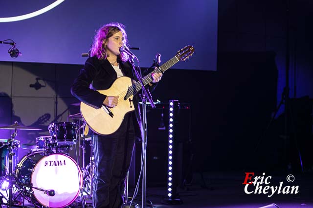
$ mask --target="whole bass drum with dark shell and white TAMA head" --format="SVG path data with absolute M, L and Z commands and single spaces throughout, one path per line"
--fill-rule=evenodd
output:
M 33 184 L 31 191 L 23 192 L 28 201 L 49 208 L 64 208 L 73 203 L 83 185 L 79 166 L 62 153 L 45 156 L 44 151 L 29 152 L 17 165 L 15 175 L 19 183 Z M 47 194 L 35 188 L 50 192 Z

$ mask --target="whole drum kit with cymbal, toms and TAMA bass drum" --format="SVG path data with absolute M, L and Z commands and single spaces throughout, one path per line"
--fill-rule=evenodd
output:
M 77 122 L 57 122 L 48 126 L 49 136 L 36 138 L 36 145 L 23 145 L 16 139 L 18 131 L 41 129 L 19 125 L 0 126 L 14 130 L 9 139 L 0 139 L 0 207 L 24 207 L 25 199 L 34 207 L 64 208 L 80 195 L 81 202 L 92 196 L 94 171 L 92 140 L 80 134 L 83 119 L 70 115 Z M 87 126 L 86 126 L 87 127 Z M 69 156 L 78 136 L 82 150 L 82 167 Z M 81 139 L 82 138 L 82 139 Z M 90 163 L 85 166 L 87 142 L 90 141 Z M 18 149 L 30 149 L 19 161 Z M 5 194 L 6 193 L 6 194 Z

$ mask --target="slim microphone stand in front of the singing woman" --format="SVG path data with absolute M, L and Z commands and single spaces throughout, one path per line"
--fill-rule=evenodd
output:
M 134 56 L 134 58 L 138 61 L 138 58 Z M 145 85 L 142 82 L 142 76 L 140 68 L 136 70 L 134 65 L 133 57 L 130 57 L 130 62 L 133 67 L 133 72 L 138 82 L 141 84 L 142 89 L 142 128 L 141 131 L 143 132 L 142 138 L 142 147 L 141 147 L 141 160 L 142 160 L 142 208 L 146 208 L 146 147 L 147 147 L 147 99 L 151 103 L 152 108 L 156 108 L 156 105 L 153 102 L 152 96 L 150 94 L 149 89 L 146 89 Z M 138 72 L 139 71 L 139 72 Z

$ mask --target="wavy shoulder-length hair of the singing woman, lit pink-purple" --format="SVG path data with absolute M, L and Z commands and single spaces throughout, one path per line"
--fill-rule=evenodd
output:
M 91 46 L 90 56 L 96 56 L 98 59 L 106 59 L 109 54 L 106 51 L 106 43 L 110 37 L 112 37 L 115 33 L 119 31 L 122 32 L 124 37 L 124 45 L 127 46 L 127 34 L 125 31 L 125 26 L 118 22 L 111 22 L 109 24 L 105 24 L 99 28 L 96 35 L 94 36 L 93 43 Z M 122 61 L 126 61 L 129 57 L 125 53 L 121 53 L 119 59 Z

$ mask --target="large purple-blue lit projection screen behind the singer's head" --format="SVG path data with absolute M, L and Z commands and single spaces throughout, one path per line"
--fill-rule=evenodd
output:
M 198 55 L 174 68 L 216 71 L 218 0 L 64 0 L 42 15 L 2 22 L 52 2 L 57 1 L 1 2 L 0 40 L 17 43 L 23 55 L 16 61 L 82 64 L 80 55 L 88 53 L 96 30 L 117 21 L 126 26 L 130 46 L 140 47 L 135 54 L 141 67 L 150 67 L 157 53 L 165 61 L 185 45 L 193 45 Z M 5 48 L 0 49 L 0 60 L 11 61 Z

